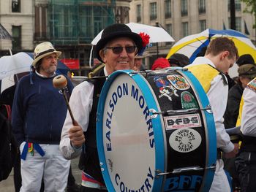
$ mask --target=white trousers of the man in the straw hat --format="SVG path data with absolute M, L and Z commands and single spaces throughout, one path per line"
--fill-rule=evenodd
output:
M 22 153 L 25 142 L 20 145 Z M 22 186 L 20 192 L 40 191 L 42 177 L 45 192 L 64 192 L 67 186 L 70 161 L 61 155 L 59 145 L 40 145 L 45 155 L 42 157 L 34 150 L 34 156 L 27 153 L 26 160 L 21 159 L 20 169 Z

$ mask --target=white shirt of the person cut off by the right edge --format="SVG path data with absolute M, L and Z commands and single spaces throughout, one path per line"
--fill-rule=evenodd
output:
M 256 137 L 256 92 L 245 88 L 243 97 L 241 132 L 246 136 Z

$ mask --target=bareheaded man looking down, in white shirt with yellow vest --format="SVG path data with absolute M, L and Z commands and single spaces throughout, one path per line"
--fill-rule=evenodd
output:
M 226 157 L 234 157 L 238 153 L 238 145 L 230 142 L 230 137 L 223 125 L 223 115 L 227 105 L 228 85 L 224 75 L 238 58 L 238 51 L 233 41 L 226 37 L 211 40 L 204 57 L 197 57 L 186 66 L 200 81 L 207 93 L 214 115 L 217 133 L 217 148 L 225 152 Z M 217 159 L 214 180 L 210 191 L 230 191 L 230 185 L 223 169 L 222 159 Z

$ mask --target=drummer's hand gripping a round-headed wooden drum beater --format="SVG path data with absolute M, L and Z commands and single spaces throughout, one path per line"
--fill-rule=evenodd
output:
M 69 101 L 67 100 L 67 94 L 65 87 L 67 86 L 67 79 L 64 75 L 58 75 L 53 78 L 53 87 L 61 90 L 64 100 L 67 104 L 67 109 L 69 111 L 70 117 L 72 119 L 73 126 L 69 129 L 69 139 L 73 147 L 81 147 L 85 142 L 83 129 L 78 125 L 78 122 L 75 121 L 75 118 L 72 114 L 72 111 L 69 106 Z

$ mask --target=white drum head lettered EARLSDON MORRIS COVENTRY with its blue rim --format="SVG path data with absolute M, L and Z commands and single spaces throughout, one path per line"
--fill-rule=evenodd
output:
M 152 120 L 149 109 L 158 110 L 140 74 L 120 71 L 108 78 L 98 105 L 97 147 L 109 191 L 161 188 L 162 179 L 154 181 L 155 170 L 164 170 L 164 140 L 156 146 L 155 137 L 164 137 L 160 118 Z M 160 131 L 154 132 L 153 125 Z M 162 162 L 157 162 L 156 154 Z

